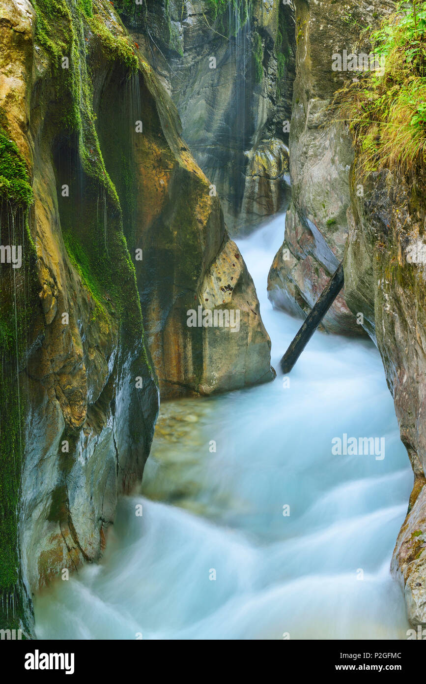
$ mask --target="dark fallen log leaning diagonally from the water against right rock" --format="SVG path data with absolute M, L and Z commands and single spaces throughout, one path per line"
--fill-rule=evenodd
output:
M 302 327 L 300 328 L 298 334 L 296 334 L 296 337 L 287 349 L 287 352 L 285 352 L 283 358 L 281 359 L 280 366 L 284 374 L 289 373 L 294 367 L 294 364 L 298 360 L 300 354 L 302 354 L 304 347 L 306 347 L 313 333 L 341 291 L 343 287 L 343 280 L 342 261 L 337 267 L 337 271 L 335 272 L 334 276 L 330 278 L 330 282 L 328 282 L 328 285 L 322 291 L 319 300 L 313 306 L 311 313 L 309 313 L 307 318 L 304 320 Z

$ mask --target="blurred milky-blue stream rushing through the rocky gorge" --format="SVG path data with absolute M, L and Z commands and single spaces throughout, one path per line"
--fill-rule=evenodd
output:
M 300 326 L 266 298 L 283 226 L 239 242 L 276 368 Z M 332 456 L 343 433 L 384 436 L 385 458 Z M 162 406 L 143 496 L 120 503 L 102 564 L 36 597 L 38 637 L 406 638 L 389 564 L 411 485 L 378 352 L 316 333 L 288 389 Z

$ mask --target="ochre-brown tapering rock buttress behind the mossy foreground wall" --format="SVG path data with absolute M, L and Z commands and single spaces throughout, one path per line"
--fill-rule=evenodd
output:
M 210 181 L 180 138 L 177 111 L 147 66 L 134 115 L 144 132 L 132 131 L 129 139 L 121 125 L 126 88 L 122 83 L 118 98 L 116 88 L 102 90 L 100 140 L 123 198 L 130 253 L 142 254 L 135 261 L 137 285 L 161 395 L 205 395 L 272 380 L 270 339 L 253 280 L 229 241 Z M 119 141 L 114 148 L 108 144 L 113 137 Z M 132 152 L 123 161 L 126 148 Z M 137 193 L 128 192 L 129 178 Z M 205 327 L 198 319 L 188 325 L 188 312 L 198 313 L 199 306 L 227 316 L 238 312 L 238 330 L 210 326 L 207 318 Z

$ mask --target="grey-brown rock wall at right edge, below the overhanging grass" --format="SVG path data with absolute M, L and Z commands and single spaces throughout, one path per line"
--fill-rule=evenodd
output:
M 426 179 L 395 179 L 382 171 L 360 183 L 352 174 L 350 233 L 345 254 L 346 300 L 364 314 L 376 341 L 395 401 L 401 440 L 414 472 L 408 516 L 401 528 L 392 570 L 405 589 L 412 624 L 426 624 Z

